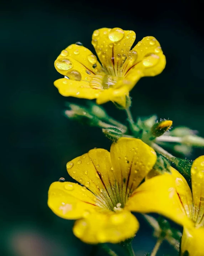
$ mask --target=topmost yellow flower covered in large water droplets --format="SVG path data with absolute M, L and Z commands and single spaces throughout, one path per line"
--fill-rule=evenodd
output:
M 143 76 L 161 73 L 166 60 L 159 42 L 144 37 L 132 50 L 136 38 L 132 30 L 101 28 L 92 35 L 97 57 L 80 42 L 71 44 L 55 61 L 65 76 L 54 82 L 63 96 L 113 101 L 126 106 L 126 96 Z M 67 79 L 69 78 L 69 79 Z

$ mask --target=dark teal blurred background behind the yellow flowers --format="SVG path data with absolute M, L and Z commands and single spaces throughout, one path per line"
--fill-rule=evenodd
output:
M 62 76 L 54 61 L 62 49 L 80 41 L 94 52 L 93 30 L 119 27 L 136 32 L 136 42 L 152 35 L 160 42 L 167 66 L 157 77 L 142 78 L 131 92 L 132 112 L 157 114 L 204 136 L 204 33 L 200 1 L 21 0 L 1 4 L 2 168 L 0 255 L 91 255 L 72 234 L 72 221 L 47 206 L 49 185 L 64 177 L 67 161 L 88 150 L 109 149 L 95 127 L 63 116 L 65 98 L 53 86 Z M 104 108 L 120 121 L 123 111 Z M 194 150 L 190 159 L 204 154 Z M 140 218 L 140 217 L 139 217 Z M 133 241 L 136 255 L 150 252 L 156 239 L 142 218 Z M 92 255 L 94 255 L 92 253 Z M 100 255 L 100 254 L 98 254 Z M 101 253 L 101 255 L 104 255 Z M 158 255 L 176 255 L 163 243 Z

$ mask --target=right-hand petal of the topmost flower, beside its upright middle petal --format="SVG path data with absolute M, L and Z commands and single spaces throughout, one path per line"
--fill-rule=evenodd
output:
M 133 70 L 130 69 L 129 72 L 141 70 L 144 76 L 156 76 L 165 68 L 165 56 L 154 37 L 144 37 L 132 50 L 137 52 L 137 59 L 131 64 Z M 129 68 L 127 66 L 126 70 Z

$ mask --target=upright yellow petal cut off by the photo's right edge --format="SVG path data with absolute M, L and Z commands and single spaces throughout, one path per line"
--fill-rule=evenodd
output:
M 194 202 L 194 221 L 204 226 L 204 156 L 199 156 L 191 168 L 191 181 Z

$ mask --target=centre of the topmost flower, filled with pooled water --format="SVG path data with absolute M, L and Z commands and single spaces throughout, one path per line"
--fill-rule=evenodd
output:
M 90 81 L 90 87 L 93 89 L 106 90 L 110 87 L 114 87 L 119 77 L 96 74 Z

